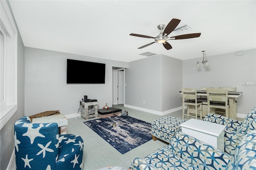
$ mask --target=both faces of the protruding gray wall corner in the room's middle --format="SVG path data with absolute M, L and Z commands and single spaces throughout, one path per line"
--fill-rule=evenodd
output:
M 126 105 L 160 112 L 180 107 L 182 61 L 165 55 L 132 61 L 125 83 Z

